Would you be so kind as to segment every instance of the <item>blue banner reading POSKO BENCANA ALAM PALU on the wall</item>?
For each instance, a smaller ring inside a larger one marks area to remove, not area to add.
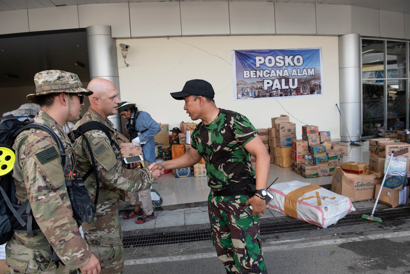
[[[321,96],[321,48],[232,51],[234,101]]]

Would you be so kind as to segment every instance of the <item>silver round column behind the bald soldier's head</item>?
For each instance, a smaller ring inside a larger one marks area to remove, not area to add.
[[[92,25],[86,28],[88,61],[90,66],[90,80],[104,78],[116,86],[120,92],[120,81],[118,78],[117,48],[115,39],[111,37],[111,26]],[[120,94],[118,94],[120,98]],[[121,117],[109,116],[108,119],[121,132]]]

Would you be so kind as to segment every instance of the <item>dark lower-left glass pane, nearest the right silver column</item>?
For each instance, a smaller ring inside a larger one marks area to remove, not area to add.
[[[375,136],[384,128],[384,80],[365,80],[363,89],[363,134]]]

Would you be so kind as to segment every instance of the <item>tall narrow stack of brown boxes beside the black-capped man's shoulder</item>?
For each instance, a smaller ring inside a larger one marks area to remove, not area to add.
[[[272,118],[272,127],[268,128],[268,145],[271,163],[282,168],[292,165],[292,141],[296,139],[296,124],[289,122],[289,116],[280,115]]]

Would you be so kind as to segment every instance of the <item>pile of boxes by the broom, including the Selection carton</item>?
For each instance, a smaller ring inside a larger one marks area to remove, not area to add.
[[[332,191],[347,196],[352,202],[376,198],[393,149],[397,157],[392,159],[379,202],[392,207],[406,203],[410,144],[394,138],[369,140],[369,163],[347,162],[342,163],[342,168],[336,168]]]

